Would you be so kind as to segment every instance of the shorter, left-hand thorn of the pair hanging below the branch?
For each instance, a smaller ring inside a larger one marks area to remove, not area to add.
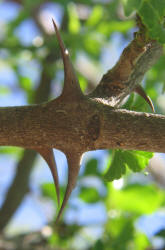
[[[37,151],[44,158],[44,160],[47,162],[50,168],[51,174],[53,176],[55,189],[56,189],[58,206],[60,206],[60,188],[59,188],[59,181],[58,181],[58,171],[57,171],[56,161],[55,161],[54,154],[53,154],[53,149],[42,148],[42,149],[37,149]]]

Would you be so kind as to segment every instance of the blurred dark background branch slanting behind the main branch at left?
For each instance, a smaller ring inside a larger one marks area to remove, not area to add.
[[[48,72],[48,67],[54,62],[54,59],[50,60],[50,58],[51,55],[48,55],[46,58],[41,73],[41,80],[35,92],[34,103],[47,101],[50,95],[52,77]],[[0,231],[8,224],[24,196],[29,192],[29,178],[36,156],[37,153],[35,151],[25,150],[17,163],[15,177],[0,209]]]

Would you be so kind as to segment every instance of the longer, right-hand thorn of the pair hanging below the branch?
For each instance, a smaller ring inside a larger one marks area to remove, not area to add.
[[[57,218],[56,218],[56,223],[59,221],[60,216],[64,210],[64,208],[66,207],[67,201],[71,195],[72,190],[74,189],[75,185],[76,185],[76,181],[77,181],[77,177],[79,174],[79,170],[80,170],[80,161],[81,161],[81,155],[73,155],[73,154],[69,154],[66,155],[67,156],[67,161],[68,161],[68,184],[66,187],[66,192],[65,192],[65,196],[64,196],[64,200],[62,202],[61,208],[58,212]]]

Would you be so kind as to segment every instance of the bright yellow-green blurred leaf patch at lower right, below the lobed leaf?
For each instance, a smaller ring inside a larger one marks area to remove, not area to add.
[[[164,193],[155,186],[129,185],[122,190],[110,190],[109,202],[116,209],[137,214],[154,212],[163,202]]]

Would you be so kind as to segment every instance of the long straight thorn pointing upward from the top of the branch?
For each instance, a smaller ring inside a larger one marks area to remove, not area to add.
[[[64,89],[63,89],[63,94],[66,93],[66,96],[76,96],[82,95],[81,88],[77,79],[77,76],[75,74],[74,68],[72,66],[71,60],[69,58],[69,52],[65,48],[65,45],[62,41],[60,32],[57,28],[57,25],[55,21],[52,19],[54,29],[56,31],[56,36],[57,40],[59,42],[60,50],[61,50],[61,55],[63,59],[63,64],[64,64]],[[74,91],[75,90],[75,91]]]

